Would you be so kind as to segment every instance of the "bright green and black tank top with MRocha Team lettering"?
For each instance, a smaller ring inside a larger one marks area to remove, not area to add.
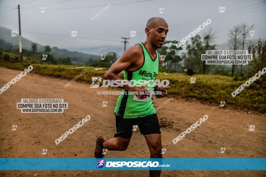
[[[140,68],[134,71],[124,70],[124,80],[154,80],[145,87],[146,89],[153,88],[152,85],[154,84],[155,77],[159,72],[158,52],[155,52],[156,58],[155,60],[152,60],[151,55],[149,54],[143,43],[136,45],[140,45],[142,48],[144,56],[143,64]],[[128,90],[122,89],[122,92],[124,92],[124,94],[119,95],[115,106],[115,113],[117,115],[121,115],[123,118],[138,118],[156,113],[152,98],[147,102],[135,101],[133,100],[134,95],[128,94]]]

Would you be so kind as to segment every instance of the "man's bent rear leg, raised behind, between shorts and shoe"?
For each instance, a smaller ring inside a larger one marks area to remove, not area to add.
[[[122,137],[111,138],[103,143],[103,148],[108,150],[126,150],[130,139],[124,139]]]

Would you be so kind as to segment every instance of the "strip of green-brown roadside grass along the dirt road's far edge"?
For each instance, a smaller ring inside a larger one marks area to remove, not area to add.
[[[0,65],[22,71],[24,68],[28,68],[30,64],[0,62]],[[92,83],[91,77],[102,77],[103,79],[105,72],[108,70],[108,68],[102,68],[102,70],[94,71],[94,67],[71,69],[79,67],[73,65],[32,64],[32,66],[33,70],[31,72],[33,73],[42,76],[63,78],[69,81],[86,69],[87,72],[77,79],[77,81],[83,81],[86,84]],[[118,74],[118,76],[123,78],[122,73]],[[195,84],[190,84],[190,77],[196,77]],[[159,72],[156,79],[160,79],[160,81],[164,79],[169,80],[170,89],[167,90],[169,96],[181,96],[189,100],[196,99],[203,103],[216,103],[218,106],[220,105],[220,101],[225,101],[225,107],[226,105],[230,105],[237,109],[248,109],[262,113],[266,112],[265,75],[262,75],[258,80],[248,87],[245,87],[245,89],[235,97],[232,97],[232,91],[240,87],[248,79],[234,81],[232,77],[228,76],[202,74],[187,76],[180,73],[168,73],[168,75],[165,75],[162,72]]]

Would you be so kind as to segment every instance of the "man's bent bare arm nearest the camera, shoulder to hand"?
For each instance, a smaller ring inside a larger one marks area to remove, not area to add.
[[[142,58],[143,52],[141,46],[135,45],[128,48],[115,63],[109,68],[109,70],[105,73],[104,79],[108,80],[120,80],[119,83],[123,80],[117,74],[121,71],[136,66],[139,58]],[[144,87],[130,87],[128,84],[123,84],[123,88],[128,91],[147,91]],[[136,95],[138,98],[143,99],[148,95]]]

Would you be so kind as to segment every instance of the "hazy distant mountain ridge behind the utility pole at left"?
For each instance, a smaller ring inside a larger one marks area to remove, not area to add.
[[[12,46],[13,49],[18,48],[18,37],[10,37],[10,29],[5,27],[0,27],[0,47],[3,49],[8,49],[9,46]],[[22,39],[22,49],[31,50],[31,43],[34,43],[31,40],[28,40],[24,37]],[[44,46],[41,44],[38,44],[38,52],[41,52],[44,50]],[[59,49],[58,47],[53,47],[52,52],[54,57],[61,57],[66,58],[70,57],[70,60],[73,62],[79,62],[79,63],[85,63],[86,60],[89,60],[89,58],[92,58],[93,60],[97,60],[100,58],[99,55],[93,55],[93,54],[87,54],[83,52],[77,52],[77,51],[70,51],[67,49]]]

